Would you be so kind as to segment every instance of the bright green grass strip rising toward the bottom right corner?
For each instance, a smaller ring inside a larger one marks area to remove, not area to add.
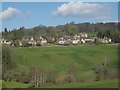
[[[92,81],[82,83],[71,83],[64,85],[53,85],[46,88],[118,88],[118,80],[103,80],[103,81]]]

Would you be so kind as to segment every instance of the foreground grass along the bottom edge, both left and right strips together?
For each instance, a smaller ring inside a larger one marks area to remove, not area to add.
[[[5,82],[3,81],[4,88],[28,88],[29,84],[18,83],[15,81]],[[103,81],[91,81],[81,83],[71,83],[63,85],[52,85],[42,88],[118,88],[118,80],[103,80]]]

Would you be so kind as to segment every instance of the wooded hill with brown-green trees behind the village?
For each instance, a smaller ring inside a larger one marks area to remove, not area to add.
[[[79,34],[80,32],[86,33],[96,33],[104,32],[108,30],[111,33],[119,32],[118,31],[118,23],[109,22],[109,23],[79,23],[75,24],[74,22],[67,23],[65,25],[58,26],[44,26],[39,25],[33,28],[26,29],[24,27],[20,27],[19,29],[13,30],[5,30],[2,32],[3,38],[8,40],[20,40],[23,38],[33,37],[62,37],[65,35],[73,36],[75,34]],[[116,34],[116,33],[115,33]]]

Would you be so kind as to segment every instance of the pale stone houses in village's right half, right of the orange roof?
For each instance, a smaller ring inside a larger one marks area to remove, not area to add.
[[[94,42],[97,37],[88,37],[87,33],[80,33],[79,35],[75,35],[73,37],[65,36],[61,37],[58,40],[59,44],[79,44],[79,43],[87,43],[87,42]],[[110,43],[111,39],[104,37],[104,38],[99,38],[100,43]]]

